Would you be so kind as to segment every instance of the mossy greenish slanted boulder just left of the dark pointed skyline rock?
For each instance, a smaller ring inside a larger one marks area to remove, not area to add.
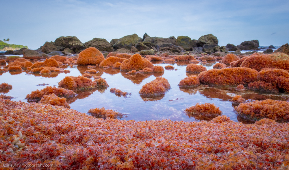
[[[138,37],[137,34],[127,35],[123,38],[120,38],[114,45],[113,49],[125,48],[130,50],[131,46],[135,46],[136,43],[142,41],[142,38]]]

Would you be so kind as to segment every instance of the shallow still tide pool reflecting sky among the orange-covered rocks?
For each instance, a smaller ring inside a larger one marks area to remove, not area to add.
[[[201,64],[208,69],[216,62]],[[231,99],[235,95],[242,95],[246,101],[275,99],[288,100],[289,95],[284,93],[279,94],[259,94],[251,90],[239,92],[235,90],[236,86],[230,87],[208,87],[199,86],[191,89],[179,88],[179,81],[185,77],[192,75],[186,73],[186,65],[188,62],[178,62],[170,64],[177,70],[165,70],[164,73],[145,74],[145,75],[127,75],[118,69],[99,69],[98,73],[93,76],[101,76],[109,84],[107,89],[87,90],[78,93],[77,97],[67,99],[71,109],[79,112],[88,112],[91,108],[112,109],[125,114],[122,119],[126,120],[162,120],[170,119],[172,121],[199,121],[194,117],[188,117],[184,110],[195,104],[214,103],[223,112],[223,115],[230,117],[233,121],[240,121],[243,123],[251,123],[248,120],[238,117],[234,111],[234,105]],[[154,65],[166,66],[169,64],[154,63]],[[13,89],[5,95],[16,97],[15,101],[24,101],[26,95],[36,89],[42,89],[46,86],[36,86],[37,84],[49,84],[48,86],[58,86],[65,76],[78,76],[84,74],[87,66],[73,66],[73,68],[63,66],[70,73],[51,73],[49,76],[42,76],[40,74],[31,74],[26,72],[6,72],[0,73],[0,84],[5,82],[11,84]],[[155,79],[155,77],[162,76],[168,80],[171,89],[165,93],[164,96],[147,99],[139,95],[139,90],[144,84]],[[93,78],[92,78],[93,80]],[[118,97],[114,93],[110,93],[110,88],[118,88],[122,91],[131,93],[127,97]]]

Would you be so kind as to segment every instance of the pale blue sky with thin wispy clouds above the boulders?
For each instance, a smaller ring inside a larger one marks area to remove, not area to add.
[[[37,49],[60,36],[82,43],[144,33],[199,39],[213,34],[219,45],[259,40],[289,43],[288,0],[10,0],[1,1],[0,40]]]

